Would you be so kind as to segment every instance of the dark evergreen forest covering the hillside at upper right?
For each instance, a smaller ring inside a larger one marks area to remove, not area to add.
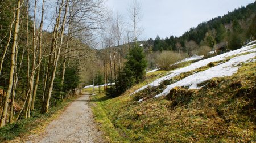
[[[214,48],[220,42],[227,42],[228,49],[234,50],[256,37],[255,24],[256,3],[228,12],[209,21],[202,22],[196,28],[190,28],[180,37],[156,36],[155,40],[148,40],[145,46],[149,51],[174,50],[187,54],[196,54],[200,46]]]

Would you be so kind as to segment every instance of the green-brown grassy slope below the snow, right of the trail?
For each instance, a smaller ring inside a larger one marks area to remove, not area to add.
[[[256,62],[242,64],[233,76],[207,81],[200,90],[175,88],[169,96],[149,96],[140,103],[138,96],[145,98],[148,92],[133,96],[130,93],[146,83],[113,99],[97,94],[92,97],[96,103],[93,112],[109,142],[253,142],[255,65]],[[197,70],[206,69],[207,66]],[[154,73],[151,78],[155,79]]]

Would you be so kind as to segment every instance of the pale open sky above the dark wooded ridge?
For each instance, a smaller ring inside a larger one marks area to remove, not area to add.
[[[143,34],[141,40],[181,36],[191,27],[228,11],[246,6],[254,0],[139,0],[142,5]],[[127,9],[132,0],[106,0],[113,12],[120,12],[127,20]]]

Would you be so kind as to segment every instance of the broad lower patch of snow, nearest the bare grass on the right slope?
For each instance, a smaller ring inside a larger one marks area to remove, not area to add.
[[[199,89],[201,87],[198,87],[197,85],[203,83],[204,81],[210,80],[214,77],[224,77],[233,75],[237,72],[238,68],[240,68],[241,63],[246,62],[247,60],[254,57],[255,53],[234,57],[230,59],[228,62],[209,68],[208,70],[195,73],[193,75],[185,77],[180,81],[177,81],[174,84],[168,85],[167,88],[164,89],[162,93],[156,95],[155,97],[167,95],[170,92],[170,90],[176,86],[189,86],[189,89]]]

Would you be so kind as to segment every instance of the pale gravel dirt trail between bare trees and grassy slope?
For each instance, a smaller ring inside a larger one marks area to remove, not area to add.
[[[26,142],[104,142],[94,123],[89,93],[73,101],[45,131],[31,135]]]

